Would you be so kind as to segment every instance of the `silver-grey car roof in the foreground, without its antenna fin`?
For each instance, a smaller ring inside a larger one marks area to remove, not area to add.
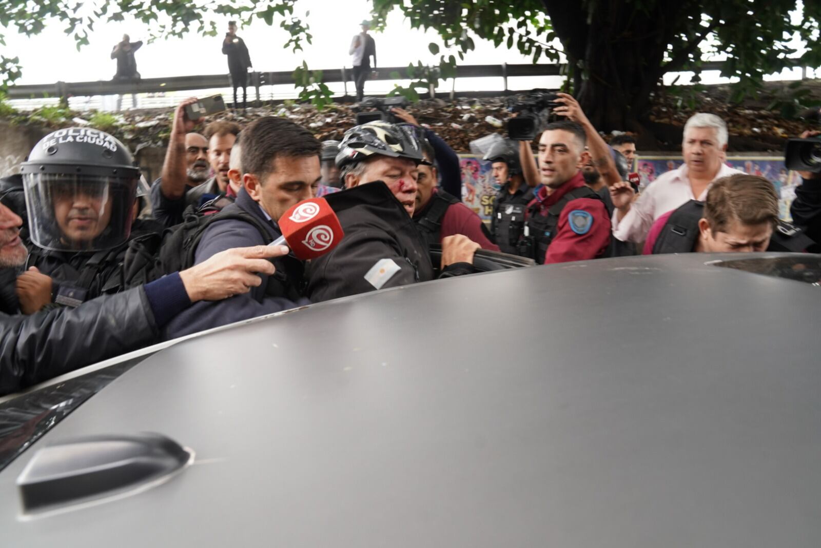
[[[172,345],[0,473],[2,545],[819,546],[821,293],[708,260],[490,272]],[[194,464],[21,513],[38,448],[139,432]]]

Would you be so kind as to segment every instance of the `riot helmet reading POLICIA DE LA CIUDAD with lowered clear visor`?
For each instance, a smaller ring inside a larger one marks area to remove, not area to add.
[[[140,169],[119,140],[100,130],[46,135],[21,165],[31,241],[55,251],[97,251],[123,244]]]

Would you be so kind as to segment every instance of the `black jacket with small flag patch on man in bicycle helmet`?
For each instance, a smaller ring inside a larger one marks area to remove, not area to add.
[[[357,186],[325,197],[337,212],[345,237],[330,253],[316,258],[308,267],[308,298],[319,302],[376,289],[433,280],[428,248],[415,222],[382,181]],[[379,288],[365,276],[381,260],[398,267]],[[474,272],[472,265],[457,263],[440,277]]]

